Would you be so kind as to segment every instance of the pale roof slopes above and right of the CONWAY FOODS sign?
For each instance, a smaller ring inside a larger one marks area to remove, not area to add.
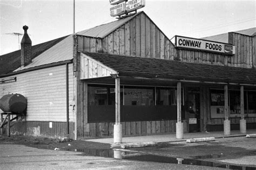
[[[255,36],[256,27],[246,29],[246,30],[233,31],[233,32],[240,33],[242,35],[247,35],[247,36]],[[228,33],[222,33],[222,34],[219,34],[219,35],[204,37],[204,38],[201,38],[201,39],[207,39],[207,40],[213,40],[213,41],[216,41],[216,42],[228,43]]]

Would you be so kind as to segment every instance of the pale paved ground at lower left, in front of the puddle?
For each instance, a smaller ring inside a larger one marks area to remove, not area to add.
[[[0,144],[1,169],[214,169],[85,156],[78,152]]]

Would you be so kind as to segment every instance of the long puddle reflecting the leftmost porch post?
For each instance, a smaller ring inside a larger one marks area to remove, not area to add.
[[[129,151],[124,149],[75,149],[75,151],[83,152],[84,153],[83,155],[125,159],[125,160],[151,161],[151,162],[161,162],[161,163],[168,163],[168,164],[198,165],[198,166],[219,167],[219,168],[227,168],[227,169],[242,169],[242,170],[256,169],[256,167],[250,167],[250,166],[230,165],[222,162],[198,160],[198,159],[220,158],[222,155],[218,155],[218,154],[203,155],[203,156],[193,157],[193,159],[184,159],[184,158],[164,157],[160,155],[147,154],[143,152]]]

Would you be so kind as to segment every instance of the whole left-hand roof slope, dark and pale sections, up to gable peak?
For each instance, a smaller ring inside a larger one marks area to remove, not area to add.
[[[142,12],[111,23],[96,26],[95,28],[77,32],[77,35],[103,38]],[[21,50],[2,55],[0,56],[0,76],[35,66],[71,60],[73,58],[72,44],[72,35],[69,35],[42,44],[33,45],[32,63],[23,68],[21,68]]]

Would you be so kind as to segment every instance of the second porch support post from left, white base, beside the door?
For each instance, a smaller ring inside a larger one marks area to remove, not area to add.
[[[176,138],[183,138],[183,123],[181,122],[181,82],[177,82],[177,123]]]

